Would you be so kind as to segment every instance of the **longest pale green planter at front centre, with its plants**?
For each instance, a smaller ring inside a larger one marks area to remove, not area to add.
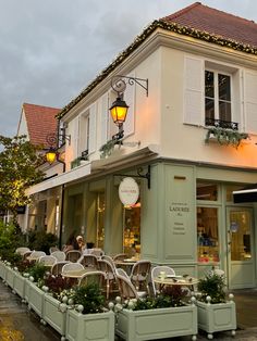
[[[130,300],[115,305],[115,333],[126,341],[157,340],[197,334],[195,298],[183,302],[184,293],[178,286],[168,287],[157,298]]]

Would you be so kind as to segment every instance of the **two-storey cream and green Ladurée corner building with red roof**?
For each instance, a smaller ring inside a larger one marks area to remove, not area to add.
[[[118,132],[109,114],[117,75],[143,83],[127,84],[123,144],[101,159],[99,149]],[[234,204],[232,195],[257,182],[254,22],[199,2],[155,21],[59,118],[71,136],[66,172],[29,192],[48,198],[63,187],[62,242],[75,230],[108,254],[134,245],[142,258],[179,274],[200,276],[218,265],[230,288],[256,287],[256,206]],[[221,132],[243,140],[221,146]],[[150,181],[139,177],[149,174]],[[139,186],[130,206],[119,198],[127,176]]]

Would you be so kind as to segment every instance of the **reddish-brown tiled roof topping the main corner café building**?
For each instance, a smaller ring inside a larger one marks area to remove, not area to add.
[[[257,47],[257,24],[255,22],[209,8],[200,2],[195,2],[179,12],[164,16],[161,21]]]

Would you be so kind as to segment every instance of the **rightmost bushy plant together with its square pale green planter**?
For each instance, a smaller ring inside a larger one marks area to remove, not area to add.
[[[231,330],[232,336],[236,329],[235,303],[233,294],[225,292],[225,279],[223,275],[215,270],[206,274],[199,280],[197,299],[198,328],[208,332],[208,339],[212,339],[216,331]]]

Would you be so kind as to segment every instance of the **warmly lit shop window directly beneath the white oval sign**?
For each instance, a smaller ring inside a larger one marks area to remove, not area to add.
[[[123,249],[130,256],[140,254],[140,203],[124,207]]]

